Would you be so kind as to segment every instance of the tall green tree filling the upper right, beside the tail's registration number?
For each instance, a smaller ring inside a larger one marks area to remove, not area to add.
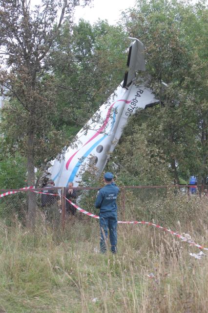
[[[176,0],[139,1],[124,15],[126,30],[145,45],[141,75],[161,103],[144,121],[146,143],[163,151],[177,183],[179,175],[208,175],[207,15],[203,2]]]

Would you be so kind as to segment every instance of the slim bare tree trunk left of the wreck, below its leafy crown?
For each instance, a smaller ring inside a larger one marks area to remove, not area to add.
[[[28,134],[28,152],[27,152],[27,181],[28,186],[35,185],[35,168],[34,168],[34,131]],[[36,220],[36,194],[28,191],[28,213],[27,227],[33,228]]]

